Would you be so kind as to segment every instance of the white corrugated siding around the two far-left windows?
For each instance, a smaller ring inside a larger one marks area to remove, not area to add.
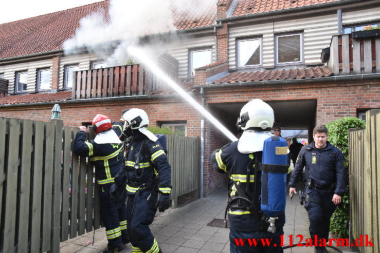
[[[8,94],[13,94],[14,92],[14,82],[15,82],[15,72],[17,71],[28,71],[28,92],[34,92],[37,84],[37,69],[40,68],[51,68],[52,61],[42,60],[28,63],[5,65],[0,68],[0,72],[4,72],[4,79],[9,81]],[[51,84],[51,75],[50,75]]]

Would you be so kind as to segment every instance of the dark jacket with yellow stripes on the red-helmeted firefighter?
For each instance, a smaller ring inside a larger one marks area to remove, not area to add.
[[[119,136],[122,123],[113,122],[113,130]],[[74,141],[74,152],[81,157],[89,157],[95,166],[99,184],[113,183],[116,173],[124,164],[122,144],[97,144],[94,140],[85,141],[87,133],[79,131]]]

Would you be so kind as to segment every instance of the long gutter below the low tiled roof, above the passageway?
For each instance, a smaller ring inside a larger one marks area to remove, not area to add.
[[[193,88],[231,88],[231,87],[247,87],[247,86],[265,86],[265,85],[281,85],[281,84],[310,84],[310,83],[328,83],[340,81],[365,81],[380,79],[380,73],[376,74],[358,74],[358,75],[337,75],[328,77],[308,78],[308,79],[292,79],[292,80],[274,80],[274,81],[257,81],[257,82],[240,82],[240,83],[224,83],[224,84],[206,84],[194,85]]]

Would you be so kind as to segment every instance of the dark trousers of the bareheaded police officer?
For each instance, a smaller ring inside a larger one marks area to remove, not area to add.
[[[310,237],[318,236],[318,240],[324,238],[329,239],[330,218],[333,215],[336,205],[332,202],[334,192],[328,189],[306,188],[306,194],[310,201],[305,203],[305,209],[310,220]]]

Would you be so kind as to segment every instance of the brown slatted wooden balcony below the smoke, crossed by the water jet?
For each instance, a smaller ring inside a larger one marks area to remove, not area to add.
[[[159,56],[158,66],[176,80],[178,61],[174,57]],[[74,72],[71,99],[147,95],[163,87],[162,81],[143,64],[89,69]]]

